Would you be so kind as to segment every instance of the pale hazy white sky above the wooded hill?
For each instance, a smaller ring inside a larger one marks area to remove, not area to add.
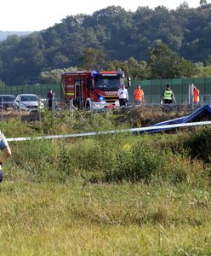
[[[135,11],[138,6],[147,5],[151,9],[158,5],[176,9],[183,2],[183,0],[2,0],[0,31],[40,31],[60,23],[60,20],[68,15],[91,15],[94,11],[111,5]],[[197,7],[200,0],[185,2],[189,7]]]

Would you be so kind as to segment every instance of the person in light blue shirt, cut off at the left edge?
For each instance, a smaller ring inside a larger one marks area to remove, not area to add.
[[[9,148],[9,143],[3,135],[3,132],[0,131],[0,183],[3,181],[3,163],[9,159],[11,156],[11,149]]]

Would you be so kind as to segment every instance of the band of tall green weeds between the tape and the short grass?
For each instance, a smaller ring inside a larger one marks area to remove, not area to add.
[[[97,116],[97,120],[101,127],[102,117]],[[96,119],[94,121],[97,125]],[[111,128],[112,124],[109,126]],[[109,137],[31,140],[13,143],[10,162],[15,169],[40,181],[55,178],[64,182],[70,177],[83,177],[85,182],[91,183],[123,180],[150,183],[152,179],[191,183],[201,177],[209,182],[210,137],[206,137],[209,133],[207,128],[179,135],[123,133]]]

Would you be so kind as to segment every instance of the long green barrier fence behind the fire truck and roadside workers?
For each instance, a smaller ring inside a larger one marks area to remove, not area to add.
[[[200,90],[202,102],[211,104],[211,78],[210,79],[158,79],[158,80],[134,80],[128,89],[129,102],[133,102],[133,93],[137,84],[142,84],[145,92],[146,103],[160,103],[161,95],[166,84],[170,84],[174,91],[174,96],[178,103],[188,103],[188,84],[195,84]],[[20,93],[33,93],[42,98],[46,98],[48,89],[55,92],[55,98],[60,99],[63,96],[60,84],[35,84],[23,86],[4,86],[0,87],[0,94],[12,94],[14,96]]]

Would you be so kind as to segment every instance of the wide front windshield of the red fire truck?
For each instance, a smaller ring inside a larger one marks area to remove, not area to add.
[[[121,78],[95,78],[95,88],[100,90],[118,89],[122,83]]]

